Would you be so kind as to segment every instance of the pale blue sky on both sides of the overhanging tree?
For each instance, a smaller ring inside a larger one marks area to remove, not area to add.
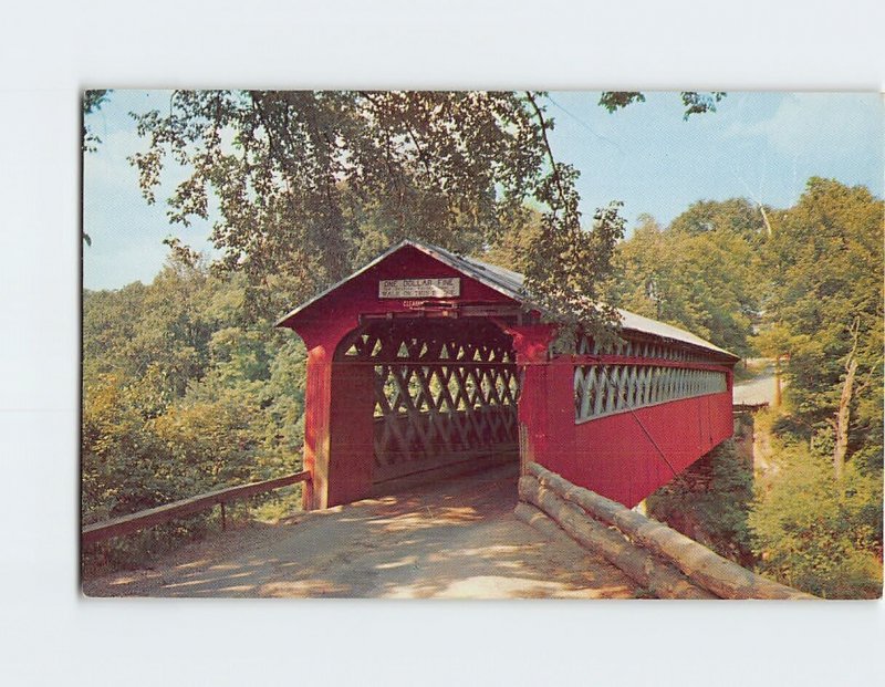
[[[581,170],[582,211],[623,200],[632,228],[649,214],[666,225],[700,199],[747,197],[773,207],[796,201],[811,176],[864,185],[883,196],[883,101],[877,93],[731,92],[715,114],[683,119],[678,93],[646,92],[646,102],[610,114],[596,92],[553,92],[551,145]],[[148,283],[163,266],[163,239],[178,236],[211,252],[210,222],[170,225],[165,199],[185,170],[170,168],[148,206],[127,162],[144,149],[129,112],[168,107],[163,91],[115,91],[90,117],[102,138],[83,164],[84,285]]]

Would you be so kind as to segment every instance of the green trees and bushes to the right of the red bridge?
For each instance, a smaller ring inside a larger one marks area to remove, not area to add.
[[[649,503],[720,553],[754,555],[760,571],[830,597],[877,596],[882,585],[882,227],[881,200],[819,178],[785,211],[699,201],[666,230],[642,218],[611,287],[639,314],[743,355],[784,356],[785,413],[771,423],[773,467],[749,520],[749,492],[728,470],[710,491],[689,470]],[[839,481],[836,412],[852,356]]]

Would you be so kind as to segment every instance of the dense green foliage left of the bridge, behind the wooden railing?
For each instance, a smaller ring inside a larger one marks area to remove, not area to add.
[[[299,468],[303,344],[247,312],[243,280],[210,274],[189,249],[173,242],[150,285],[86,291],[83,355],[85,523]],[[86,559],[143,563],[214,518],[101,544]]]

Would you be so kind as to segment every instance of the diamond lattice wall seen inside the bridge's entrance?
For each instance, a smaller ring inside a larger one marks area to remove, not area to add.
[[[519,379],[494,325],[376,322],[343,351],[375,368],[376,472],[514,448]]]

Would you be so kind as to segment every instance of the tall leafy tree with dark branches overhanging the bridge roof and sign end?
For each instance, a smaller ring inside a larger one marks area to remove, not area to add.
[[[686,115],[721,96],[684,93]],[[149,146],[133,162],[150,202],[166,158],[185,165],[171,220],[208,217],[215,195],[221,264],[253,285],[294,277],[282,284],[290,302],[402,238],[481,251],[524,222],[532,200],[543,211],[527,289],[556,319],[611,329],[614,311],[595,303],[623,221],[615,204],[582,225],[579,173],[555,160],[553,125],[533,92],[176,92],[168,113],[138,117]]]

